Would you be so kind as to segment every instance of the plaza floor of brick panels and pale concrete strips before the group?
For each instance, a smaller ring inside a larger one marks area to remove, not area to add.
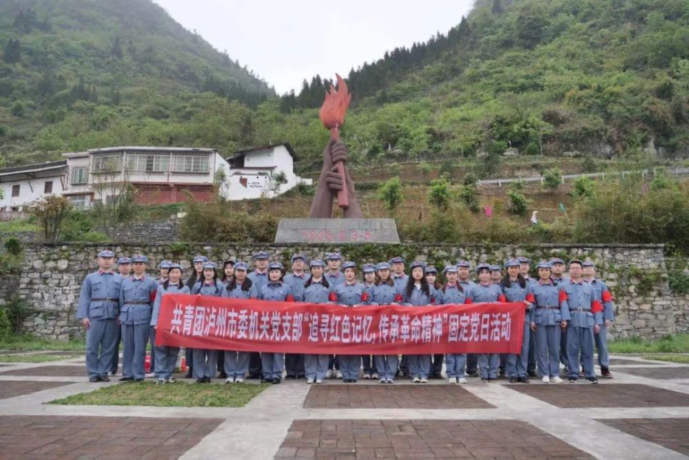
[[[598,385],[283,381],[243,408],[47,404],[120,384],[89,383],[83,358],[0,366],[0,459],[689,456],[689,365],[634,356]]]

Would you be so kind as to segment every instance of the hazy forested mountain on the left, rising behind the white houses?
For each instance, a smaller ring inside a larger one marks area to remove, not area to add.
[[[249,107],[274,95],[150,0],[2,0],[0,53],[0,147],[12,162],[41,158],[24,158],[32,151],[174,143],[146,133],[171,112],[193,116],[186,104],[201,92]],[[138,138],[101,140],[126,130],[119,123],[138,125]]]

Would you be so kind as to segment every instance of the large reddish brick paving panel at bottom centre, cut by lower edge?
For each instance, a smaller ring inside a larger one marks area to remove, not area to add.
[[[517,420],[295,420],[276,458],[590,459]]]

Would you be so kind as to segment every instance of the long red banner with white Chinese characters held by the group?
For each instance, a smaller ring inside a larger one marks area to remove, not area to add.
[[[520,353],[524,303],[360,306],[166,294],[156,345],[330,355]]]

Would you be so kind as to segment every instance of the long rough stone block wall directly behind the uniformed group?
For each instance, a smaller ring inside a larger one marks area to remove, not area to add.
[[[408,261],[418,258],[439,269],[445,264],[466,259],[475,266],[480,262],[500,263],[526,255],[534,262],[561,257],[590,259],[615,295],[617,321],[610,333],[613,338],[657,338],[689,331],[689,297],[675,295],[668,286],[664,247],[660,244],[531,244],[515,247],[497,244],[39,244],[24,245],[25,264],[17,276],[13,293],[27,300],[32,309],[25,320],[28,333],[67,339],[83,331],[74,319],[81,282],[96,269],[95,255],[109,248],[118,256],[143,253],[157,275],[156,265],[163,259],[181,262],[185,278],[196,254],[221,262],[228,258],[251,260],[251,254],[265,250],[289,266],[291,254],[322,258],[338,251],[350,260],[380,262],[393,255]],[[6,290],[0,290],[0,295]]]

